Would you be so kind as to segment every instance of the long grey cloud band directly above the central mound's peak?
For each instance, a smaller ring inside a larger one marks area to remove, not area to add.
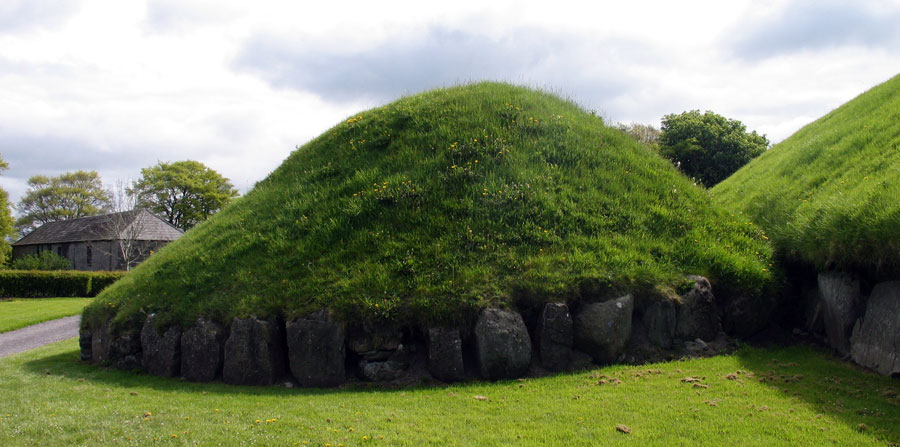
[[[642,63],[658,56],[636,42],[591,44],[579,36],[534,29],[491,38],[435,27],[397,36],[369,51],[332,48],[309,39],[257,35],[239,53],[234,67],[275,87],[339,102],[384,102],[429,88],[486,79],[602,99],[627,92],[633,81],[617,71],[619,63],[598,64],[598,60],[624,57]],[[597,70],[598,66],[606,68]]]

